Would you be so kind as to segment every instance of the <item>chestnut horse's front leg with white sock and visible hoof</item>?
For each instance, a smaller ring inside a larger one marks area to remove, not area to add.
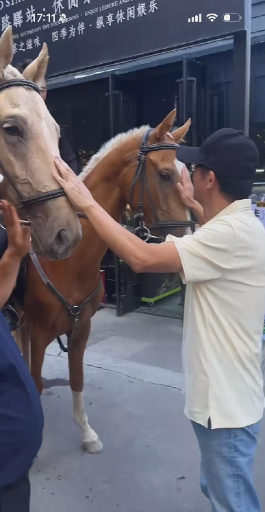
[[[84,388],[83,357],[86,342],[90,334],[90,324],[84,325],[81,332],[71,341],[68,351],[70,386],[73,393],[73,409],[75,423],[83,430],[82,447],[84,452],[99,454],[103,450],[103,444],[99,436],[92,430],[88,423],[88,417],[84,410],[82,391]]]

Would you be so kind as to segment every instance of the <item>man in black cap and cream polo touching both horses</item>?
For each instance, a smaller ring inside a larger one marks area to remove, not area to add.
[[[201,450],[201,488],[212,512],[261,512],[252,465],[264,410],[265,231],[248,199],[257,149],[242,132],[224,128],[201,148],[179,147],[177,158],[194,164],[194,190],[186,168],[178,187],[203,225],[158,245],[110,218],[62,161],[55,177],[133,270],[181,272],[185,412]]]

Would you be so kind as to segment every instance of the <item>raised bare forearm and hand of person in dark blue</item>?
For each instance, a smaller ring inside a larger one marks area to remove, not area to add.
[[[8,230],[8,248],[0,260],[1,309],[15,286],[21,259],[29,252],[30,229],[21,226],[16,210],[7,201],[1,201],[0,208]]]

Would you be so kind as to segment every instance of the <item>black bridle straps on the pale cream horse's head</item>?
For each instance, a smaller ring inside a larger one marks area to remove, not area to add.
[[[33,89],[38,94],[40,94],[40,89],[36,84],[33,82],[29,82],[28,80],[7,80],[0,84],[0,93],[1,91],[4,91],[5,89],[10,89],[10,87],[28,87],[29,89]],[[18,190],[18,187],[16,186],[16,183],[14,183],[13,178],[10,176],[8,171],[3,166],[3,163],[0,161],[0,170],[3,172],[6,178],[8,178],[8,181],[12,185],[13,189],[16,191],[16,194],[18,195],[21,205],[17,207],[17,209],[23,209],[25,207],[35,205],[36,202],[43,202],[48,201],[50,199],[59,198],[62,196],[65,196],[64,189],[55,189],[48,192],[42,192],[41,194],[38,194],[36,196],[31,196],[30,198],[25,198],[23,194]]]

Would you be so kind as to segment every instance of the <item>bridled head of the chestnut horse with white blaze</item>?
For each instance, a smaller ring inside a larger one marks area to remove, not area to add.
[[[146,147],[153,146],[154,148],[149,148],[151,151],[147,150],[146,154],[142,155],[142,146],[140,146],[138,154],[138,165],[140,159],[144,159],[143,172],[146,183],[141,184],[141,179],[143,179],[140,176],[141,172],[138,177],[136,175],[134,178],[133,175],[129,176],[129,174],[126,177],[126,187],[127,190],[130,189],[128,203],[131,209],[134,212],[139,211],[139,205],[142,203],[145,224],[147,226],[156,224],[155,231],[159,235],[166,235],[169,232],[183,235],[186,232],[186,226],[182,228],[180,226],[162,226],[162,224],[190,221],[190,211],[184,206],[177,187],[177,183],[181,181],[183,164],[177,161],[176,148],[176,144],[183,141],[190,128],[190,119],[184,126],[170,133],[175,117],[176,110],[173,110],[157,128],[149,130],[150,133],[148,133],[147,127],[142,132],[142,143],[146,134]],[[134,182],[135,186],[132,193],[131,183]],[[160,223],[162,231],[157,227],[157,224]]]

